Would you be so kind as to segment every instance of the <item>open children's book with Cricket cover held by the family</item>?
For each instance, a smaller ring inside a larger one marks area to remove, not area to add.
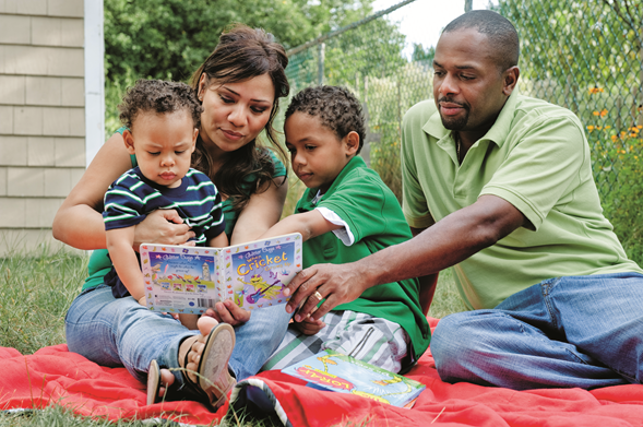
[[[225,299],[253,310],[286,304],[283,288],[301,271],[301,235],[226,248],[141,245],[147,307],[202,315]]]

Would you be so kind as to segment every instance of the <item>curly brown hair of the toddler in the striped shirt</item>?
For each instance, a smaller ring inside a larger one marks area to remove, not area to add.
[[[144,79],[136,81],[133,87],[128,88],[118,109],[120,121],[129,129],[132,129],[134,119],[141,112],[165,114],[181,110],[187,110],[192,117],[194,128],[200,128],[203,111],[194,90],[186,83]]]

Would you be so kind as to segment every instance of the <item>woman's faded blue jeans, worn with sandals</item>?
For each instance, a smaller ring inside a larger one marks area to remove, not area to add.
[[[277,348],[291,315],[286,306],[253,310],[250,321],[235,328],[236,345],[229,368],[237,380],[255,375]],[[66,318],[67,344],[100,366],[124,366],[145,381],[152,359],[162,367],[177,368],[180,343],[199,331],[189,331],[169,315],[153,312],[133,298],[114,298],[100,285],[79,295]],[[175,372],[182,383],[182,377]]]

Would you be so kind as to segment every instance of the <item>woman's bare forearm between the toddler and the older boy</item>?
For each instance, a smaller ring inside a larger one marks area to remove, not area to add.
[[[265,191],[252,194],[241,211],[230,245],[257,240],[279,221],[288,192],[288,179],[276,177],[266,186],[269,187]]]

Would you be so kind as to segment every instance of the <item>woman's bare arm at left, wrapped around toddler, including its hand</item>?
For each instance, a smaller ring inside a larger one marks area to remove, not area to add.
[[[122,135],[100,147],[53,218],[53,237],[78,249],[105,249],[103,199],[111,182],[132,167]],[[171,223],[175,224],[171,224]],[[176,211],[155,211],[134,228],[134,248],[143,241],[182,245],[194,236]]]

